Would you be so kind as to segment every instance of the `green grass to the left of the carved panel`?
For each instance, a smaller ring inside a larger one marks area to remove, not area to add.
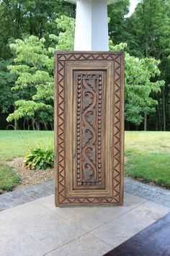
[[[0,130],[0,189],[12,190],[19,183],[19,176],[6,161],[24,156],[32,148],[45,148],[53,145],[53,132],[50,131],[10,131]]]

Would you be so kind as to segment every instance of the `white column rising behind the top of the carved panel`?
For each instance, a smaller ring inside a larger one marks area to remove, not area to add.
[[[74,51],[109,51],[106,0],[76,1]]]

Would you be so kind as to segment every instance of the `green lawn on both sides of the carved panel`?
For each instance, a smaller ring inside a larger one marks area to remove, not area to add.
[[[32,148],[53,145],[53,132],[0,131],[0,189],[10,190],[19,177],[5,162]],[[125,132],[125,175],[170,189],[170,132]]]

